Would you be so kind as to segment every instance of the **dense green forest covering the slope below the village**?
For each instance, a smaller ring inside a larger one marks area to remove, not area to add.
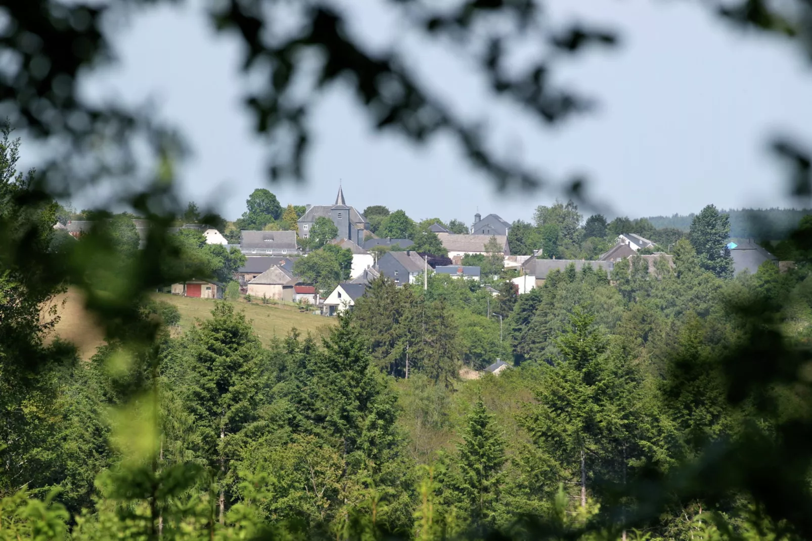
[[[733,277],[706,206],[672,264],[377,279],[264,346],[235,302],[179,333],[145,293],[235,256],[67,239],[2,149],[0,539],[808,538],[810,219],[784,271]],[[68,282],[107,314],[88,361],[42,311]]]

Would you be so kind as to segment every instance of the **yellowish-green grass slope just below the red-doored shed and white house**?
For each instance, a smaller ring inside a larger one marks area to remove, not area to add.
[[[182,331],[192,326],[195,319],[210,318],[211,310],[214,309],[213,299],[198,299],[167,293],[156,293],[154,298],[178,307]],[[257,336],[266,345],[274,340],[274,336],[283,338],[294,327],[302,334],[311,332],[313,335],[320,336],[326,335],[330,327],[335,325],[335,319],[311,314],[309,311],[301,312],[299,306],[292,302],[277,301],[274,304],[263,305],[261,301],[255,300],[248,303],[244,299],[240,299],[234,304],[245,314],[245,317],[252,323]]]

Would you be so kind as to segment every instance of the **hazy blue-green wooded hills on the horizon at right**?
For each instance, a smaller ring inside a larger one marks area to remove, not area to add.
[[[812,209],[732,209],[721,210],[730,215],[730,236],[756,240],[781,240],[787,238],[798,222]],[[658,229],[676,227],[688,231],[694,214],[672,216],[649,216],[646,219]]]

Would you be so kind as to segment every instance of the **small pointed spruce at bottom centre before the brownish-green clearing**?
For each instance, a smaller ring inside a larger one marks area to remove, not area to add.
[[[466,419],[463,442],[457,446],[460,467],[460,500],[477,529],[495,526],[495,515],[504,482],[504,441],[494,417],[482,398]]]

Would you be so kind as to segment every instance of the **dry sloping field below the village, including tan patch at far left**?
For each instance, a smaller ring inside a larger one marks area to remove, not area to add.
[[[196,299],[166,293],[155,293],[154,298],[158,301],[170,302],[178,307],[181,331],[188,329],[196,318],[208,319],[211,317],[211,310],[214,308],[214,301],[211,299]],[[96,348],[104,343],[104,335],[101,327],[93,320],[93,316],[85,311],[80,293],[74,290],[68,291],[54,299],[54,304],[58,306],[60,316],[54,329],[54,335],[76,344],[83,359],[93,357]],[[330,326],[335,324],[334,319],[300,312],[298,307],[292,303],[263,305],[239,301],[236,305],[237,309],[252,322],[257,336],[266,345],[270,344],[274,336],[287,335],[293,327],[299,329],[303,334],[311,332],[313,335],[319,336],[325,335]]]

